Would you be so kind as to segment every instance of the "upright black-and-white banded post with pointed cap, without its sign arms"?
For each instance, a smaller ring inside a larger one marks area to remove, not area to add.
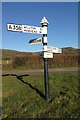
[[[48,21],[45,17],[43,17],[42,21],[43,30],[47,31]],[[44,86],[45,86],[45,97],[48,100],[50,97],[49,90],[49,80],[48,80],[48,63],[47,63],[47,33],[43,34],[43,49],[44,49]]]

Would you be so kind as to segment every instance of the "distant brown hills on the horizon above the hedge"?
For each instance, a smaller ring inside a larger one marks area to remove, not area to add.
[[[62,48],[62,55],[78,55],[78,49],[75,48]],[[39,56],[40,53],[37,52],[19,52],[15,50],[7,50],[7,49],[2,49],[0,50],[0,53],[2,52],[2,60],[10,60],[15,56]],[[59,54],[55,54],[59,55]],[[60,56],[60,55],[59,55]]]

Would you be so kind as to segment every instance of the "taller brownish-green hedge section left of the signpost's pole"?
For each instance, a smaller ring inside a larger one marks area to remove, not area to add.
[[[42,58],[36,56],[23,56],[23,57],[14,57],[12,62],[13,68],[19,69],[39,69],[43,68]]]

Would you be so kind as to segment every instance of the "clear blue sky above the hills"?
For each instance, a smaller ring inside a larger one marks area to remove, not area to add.
[[[29,45],[29,41],[42,34],[10,32],[7,23],[41,27],[43,17],[49,22],[48,46],[78,48],[77,2],[3,2],[2,48],[24,52],[42,51],[42,44]]]

